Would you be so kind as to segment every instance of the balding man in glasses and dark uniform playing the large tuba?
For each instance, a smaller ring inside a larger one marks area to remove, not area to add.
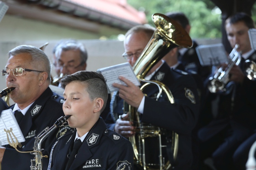
[[[127,58],[131,66],[134,66],[151,39],[154,30],[149,26],[136,26],[126,33],[124,57]],[[159,101],[152,99],[151,97],[155,96],[158,88],[145,89],[143,92],[147,96],[144,96],[139,87],[124,77],[120,77],[120,80],[124,81],[127,86],[113,84],[113,86],[119,88],[119,95],[117,96],[116,92],[113,94],[110,107],[111,113],[106,119],[106,124],[110,129],[123,136],[130,137],[135,135],[135,127],[132,126],[133,122],[128,120],[129,114],[123,114],[125,100],[128,104],[138,109],[138,112],[141,113],[142,122],[160,126],[160,128],[166,129],[168,134],[171,131],[179,134],[177,160],[175,165],[172,162],[172,166],[174,169],[189,169],[192,164],[191,130],[194,128],[199,114],[195,80],[187,73],[183,74],[178,70],[170,69],[164,61],[159,61],[150,70],[145,79],[158,80],[167,85],[172,92],[175,103],[172,104],[168,101],[165,95]],[[163,140],[166,142],[166,139]],[[157,156],[154,155],[154,150],[157,147],[158,145],[155,143],[155,146],[151,146],[150,149],[146,150],[151,155]],[[167,151],[167,154],[171,155],[170,151]]]

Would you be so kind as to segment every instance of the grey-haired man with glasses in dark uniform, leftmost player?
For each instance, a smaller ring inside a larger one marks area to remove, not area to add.
[[[33,46],[18,46],[9,52],[9,60],[2,74],[6,76],[6,85],[15,88],[10,95],[15,104],[9,108],[13,110],[25,137],[25,142],[17,149],[33,151],[35,137],[64,116],[63,98],[48,87],[51,83],[51,63],[42,50]],[[55,135],[54,131],[42,142],[43,155],[49,156]],[[3,170],[27,170],[33,158],[34,155],[19,153],[10,145],[0,148]],[[48,158],[42,161],[46,169]]]

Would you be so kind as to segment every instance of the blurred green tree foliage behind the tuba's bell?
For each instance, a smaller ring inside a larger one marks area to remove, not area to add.
[[[221,11],[210,0],[127,0],[139,11],[144,11],[149,24],[153,25],[154,13],[183,12],[189,19],[192,38],[220,38]]]

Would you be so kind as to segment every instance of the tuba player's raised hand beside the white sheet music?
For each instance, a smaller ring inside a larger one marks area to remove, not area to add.
[[[144,96],[142,91],[138,86],[135,86],[128,79],[122,76],[120,76],[119,79],[127,84],[127,86],[124,86],[121,84],[113,83],[114,87],[119,88],[119,97],[124,99],[126,103],[130,104],[131,106],[138,108]]]

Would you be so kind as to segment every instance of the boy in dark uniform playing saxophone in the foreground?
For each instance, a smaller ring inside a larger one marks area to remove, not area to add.
[[[48,169],[132,170],[130,141],[108,130],[99,117],[108,99],[104,77],[93,71],[78,71],[61,79],[61,86],[65,88],[63,111],[70,116],[69,126],[76,130],[59,138]]]

